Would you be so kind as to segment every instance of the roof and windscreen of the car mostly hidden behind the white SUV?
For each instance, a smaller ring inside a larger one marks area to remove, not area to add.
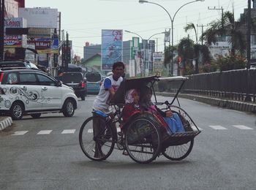
[[[29,61],[0,61],[0,69],[38,69],[37,66]]]

